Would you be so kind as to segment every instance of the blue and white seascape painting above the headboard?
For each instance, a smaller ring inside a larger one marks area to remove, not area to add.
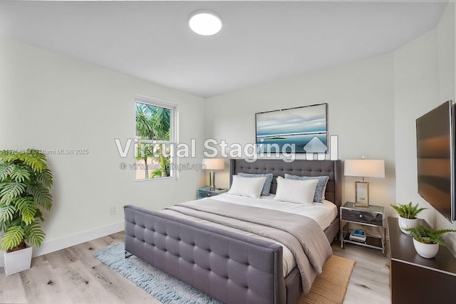
[[[326,153],[327,106],[322,103],[256,113],[257,152]]]

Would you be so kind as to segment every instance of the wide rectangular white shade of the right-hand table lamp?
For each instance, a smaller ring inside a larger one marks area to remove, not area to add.
[[[347,177],[385,177],[383,159],[346,159],[343,175]]]

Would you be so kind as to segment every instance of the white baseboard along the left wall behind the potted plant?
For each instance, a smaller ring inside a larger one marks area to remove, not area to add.
[[[83,231],[79,234],[73,234],[71,236],[66,236],[61,239],[44,241],[41,244],[40,248],[33,248],[33,257],[43,256],[43,254],[46,253],[51,253],[64,248],[75,246],[80,243],[85,243],[86,241],[92,241],[103,236],[108,236],[109,234],[115,234],[116,232],[123,231],[124,229],[125,221],[119,221],[115,224],[110,224],[108,226]],[[0,267],[3,267],[3,258],[0,258]]]

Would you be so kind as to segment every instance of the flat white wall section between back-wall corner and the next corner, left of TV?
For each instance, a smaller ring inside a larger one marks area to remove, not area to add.
[[[396,197],[415,203],[420,200],[415,120],[440,105],[436,31],[398,49],[394,59]]]

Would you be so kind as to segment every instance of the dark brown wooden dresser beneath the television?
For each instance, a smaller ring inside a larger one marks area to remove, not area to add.
[[[412,236],[400,231],[394,217],[388,217],[388,235],[391,302],[455,303],[456,258],[450,251],[440,246],[435,258],[421,257],[413,247]]]

